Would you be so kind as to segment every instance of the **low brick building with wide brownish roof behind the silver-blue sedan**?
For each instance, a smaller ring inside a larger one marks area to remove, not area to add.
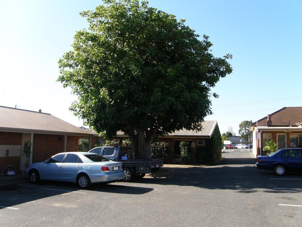
[[[0,106],[0,171],[8,165],[24,170],[25,141],[30,141],[30,163],[56,153],[77,151],[79,138],[90,134],[49,113]]]

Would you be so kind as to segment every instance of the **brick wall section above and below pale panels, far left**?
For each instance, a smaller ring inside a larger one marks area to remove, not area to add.
[[[0,145],[22,145],[22,133],[0,132]],[[0,157],[0,173],[2,169],[10,165],[14,166],[16,171],[19,171],[20,156],[8,157],[8,150],[6,150],[6,156]]]

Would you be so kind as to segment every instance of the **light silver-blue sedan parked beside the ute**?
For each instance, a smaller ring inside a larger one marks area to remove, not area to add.
[[[75,182],[82,189],[91,183],[113,182],[124,177],[122,163],[114,162],[95,153],[65,152],[33,163],[24,171],[31,183],[39,180]]]

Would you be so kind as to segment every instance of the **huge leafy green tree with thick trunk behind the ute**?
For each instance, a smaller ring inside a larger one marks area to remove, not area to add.
[[[78,96],[70,110],[107,137],[127,133],[135,158],[149,157],[155,136],[201,130],[211,114],[210,89],[232,72],[210,53],[208,36],[138,0],[104,0],[80,13],[88,30],[59,59],[58,81]]]

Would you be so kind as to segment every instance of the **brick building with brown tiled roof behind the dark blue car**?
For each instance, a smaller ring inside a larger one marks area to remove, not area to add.
[[[283,107],[254,122],[253,153],[262,155],[265,141],[273,140],[277,149],[302,147],[302,107]]]

